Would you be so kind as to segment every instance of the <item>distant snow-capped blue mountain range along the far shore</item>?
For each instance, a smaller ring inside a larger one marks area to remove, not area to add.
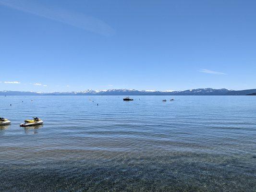
[[[254,95],[256,89],[228,90],[228,89],[190,89],[185,91],[154,91],[135,89],[109,89],[109,90],[85,90],[80,92],[24,92],[24,91],[0,91],[0,96],[245,96]]]

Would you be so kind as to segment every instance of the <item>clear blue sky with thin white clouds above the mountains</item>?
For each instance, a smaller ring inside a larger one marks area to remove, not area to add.
[[[0,0],[0,91],[256,88],[255,0]]]

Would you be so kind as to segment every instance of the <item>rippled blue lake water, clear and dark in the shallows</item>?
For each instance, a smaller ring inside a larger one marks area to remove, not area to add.
[[[256,191],[256,96],[133,98],[1,96],[0,191]]]

